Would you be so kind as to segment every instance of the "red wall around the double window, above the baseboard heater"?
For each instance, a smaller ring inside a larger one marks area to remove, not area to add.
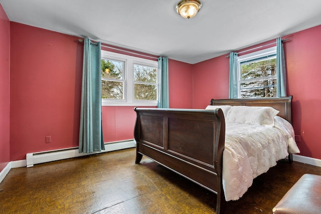
[[[77,40],[11,23],[12,161],[26,159],[29,152],[78,146],[83,44]],[[170,106],[192,108],[192,65],[169,64]],[[105,142],[133,138],[133,109],[102,107]],[[51,143],[45,141],[48,135]]]

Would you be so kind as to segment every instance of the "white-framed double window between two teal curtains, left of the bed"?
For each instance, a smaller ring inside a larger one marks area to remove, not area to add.
[[[157,105],[157,61],[107,51],[101,58],[102,105]]]

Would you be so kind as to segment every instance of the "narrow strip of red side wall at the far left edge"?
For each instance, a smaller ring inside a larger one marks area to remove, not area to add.
[[[10,21],[0,5],[0,171],[10,162]]]

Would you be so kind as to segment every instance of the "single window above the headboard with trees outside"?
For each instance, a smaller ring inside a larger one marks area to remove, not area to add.
[[[238,57],[238,97],[276,97],[276,47]]]

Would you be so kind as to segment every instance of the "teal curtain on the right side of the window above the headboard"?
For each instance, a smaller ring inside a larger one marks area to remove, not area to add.
[[[276,96],[286,97],[286,68],[281,38],[276,39]]]

